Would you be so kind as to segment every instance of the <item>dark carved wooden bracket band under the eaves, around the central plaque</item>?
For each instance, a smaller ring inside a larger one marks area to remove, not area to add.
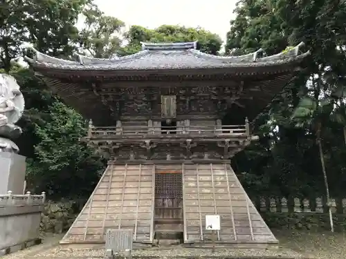
[[[210,114],[225,111],[233,104],[244,108],[242,100],[252,99],[248,90],[244,90],[244,81],[228,86],[193,86],[193,87],[127,87],[110,88],[92,84],[95,95],[101,98],[102,104],[118,116],[121,115],[159,115],[166,101],[179,114],[201,113]],[[168,96],[176,96],[168,99]],[[163,97],[163,99],[161,99]],[[174,107],[173,107],[174,106]],[[165,111],[168,111],[165,109]],[[164,115],[162,117],[176,117]]]

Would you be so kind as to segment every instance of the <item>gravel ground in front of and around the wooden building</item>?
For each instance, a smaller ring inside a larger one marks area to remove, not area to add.
[[[316,258],[316,259],[345,259],[345,233],[307,233],[291,231],[274,231],[280,240],[280,249],[184,249],[175,246],[169,249],[145,249],[134,251],[134,256],[156,258],[188,258],[190,256],[208,258]],[[103,249],[59,249],[57,242],[60,236],[48,236],[44,243],[24,251],[3,256],[1,259],[94,259],[102,258]]]

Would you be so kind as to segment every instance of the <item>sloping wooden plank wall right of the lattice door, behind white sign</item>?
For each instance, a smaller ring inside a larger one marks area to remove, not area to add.
[[[230,165],[184,165],[184,242],[212,240],[206,215],[221,217],[219,242],[277,242]]]

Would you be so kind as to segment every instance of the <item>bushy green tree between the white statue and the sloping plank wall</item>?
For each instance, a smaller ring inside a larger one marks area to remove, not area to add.
[[[35,124],[39,143],[28,179],[51,198],[89,195],[98,182],[102,162],[80,143],[80,137],[86,135],[84,119],[61,102],[53,103],[48,115],[44,124]]]

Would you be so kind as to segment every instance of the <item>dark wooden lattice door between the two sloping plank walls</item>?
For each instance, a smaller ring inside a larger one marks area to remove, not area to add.
[[[181,173],[155,174],[155,219],[183,218],[183,179]]]

